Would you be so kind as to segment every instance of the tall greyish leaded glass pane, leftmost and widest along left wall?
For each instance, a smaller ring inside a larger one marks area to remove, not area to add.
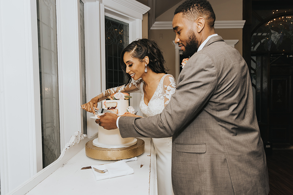
[[[56,1],[37,0],[43,168],[60,156]]]

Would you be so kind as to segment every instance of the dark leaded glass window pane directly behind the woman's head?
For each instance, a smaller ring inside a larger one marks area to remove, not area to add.
[[[120,54],[128,45],[128,28],[128,23],[105,16],[106,89],[121,86],[126,81]]]

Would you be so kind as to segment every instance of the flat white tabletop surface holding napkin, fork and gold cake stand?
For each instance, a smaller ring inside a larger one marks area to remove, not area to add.
[[[80,195],[97,193],[126,195],[136,194],[137,192],[142,195],[147,195],[149,194],[150,188],[153,187],[150,186],[150,183],[153,184],[154,181],[156,182],[156,170],[154,166],[150,165],[151,158],[155,157],[155,155],[154,150],[151,150],[150,138],[140,139],[145,141],[145,152],[138,157],[137,161],[127,162],[127,164],[134,169],[134,173],[131,175],[96,181],[92,169],[81,170],[81,168],[114,161],[102,161],[89,158],[85,155],[85,148],[83,148],[69,161],[65,162],[42,182],[38,183],[27,195]],[[84,144],[84,142],[80,144]],[[76,145],[70,147],[70,150],[76,147]],[[24,189],[16,190],[13,194],[21,194],[23,190]]]

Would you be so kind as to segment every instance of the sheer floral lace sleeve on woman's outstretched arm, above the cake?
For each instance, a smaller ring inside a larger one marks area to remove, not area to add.
[[[142,82],[142,79],[138,79],[138,80],[133,80],[131,83],[129,83],[128,85],[122,85],[119,87],[113,87],[110,89],[107,89],[106,91],[104,91],[103,93],[97,95],[99,97],[99,101],[105,100],[107,98],[110,98],[111,94],[117,93],[117,92],[125,92],[125,93],[131,93],[131,92],[135,92],[137,90],[139,90],[139,83]]]

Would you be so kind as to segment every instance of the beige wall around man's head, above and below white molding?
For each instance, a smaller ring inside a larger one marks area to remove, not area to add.
[[[182,3],[181,1],[171,9],[167,10],[162,15],[156,18],[156,22],[172,21],[175,9]],[[242,0],[210,0],[214,9],[216,21],[222,20],[242,20]],[[242,29],[215,29],[216,33],[222,36],[224,40],[236,39],[239,40],[235,48],[242,55]],[[160,39],[160,34],[163,38]],[[175,39],[173,30],[150,30],[149,38],[154,39],[159,44],[164,53],[166,65],[169,69],[169,74],[175,77],[175,46],[172,41]]]

